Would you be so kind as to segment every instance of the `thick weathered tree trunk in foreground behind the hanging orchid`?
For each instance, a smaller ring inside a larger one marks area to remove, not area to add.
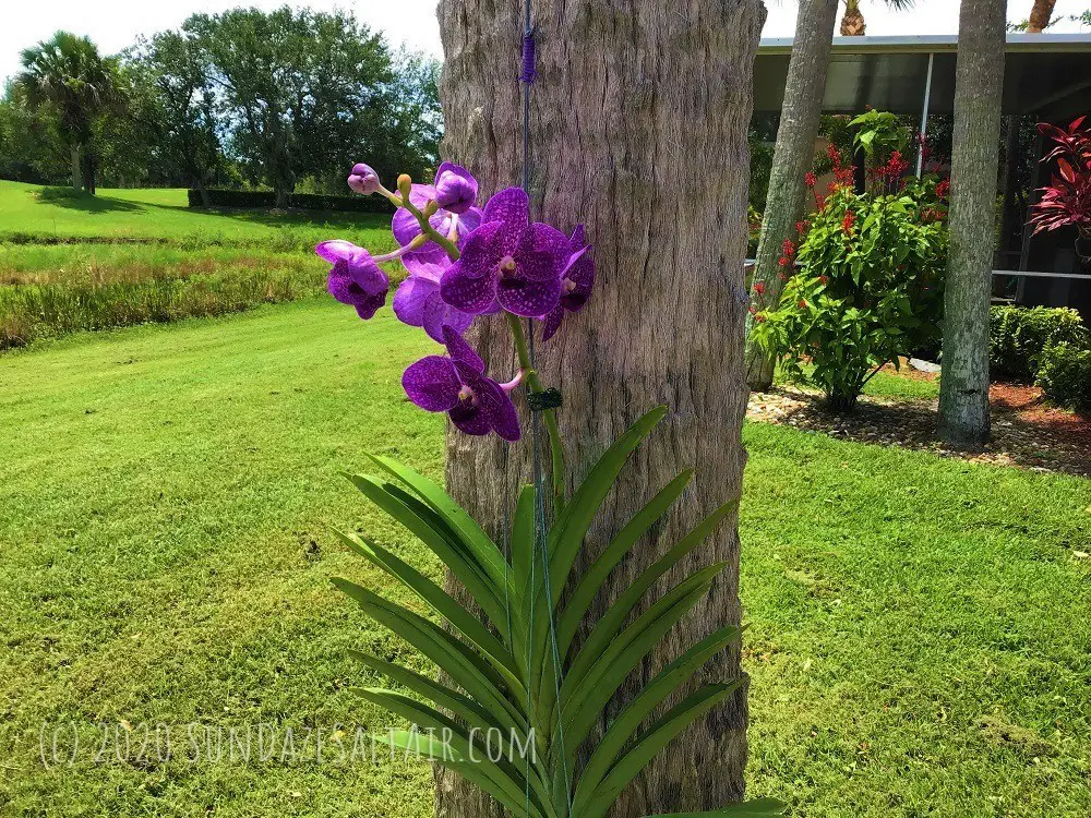
[[[516,77],[523,3],[441,0],[439,14],[444,153],[472,168],[483,193],[491,194],[520,178],[523,104]],[[537,219],[564,230],[586,224],[598,266],[587,308],[565,318],[561,333],[539,347],[543,381],[564,394],[560,423],[570,488],[639,416],[660,404],[671,409],[623,471],[576,575],[681,469],[694,466],[698,474],[655,538],[615,569],[589,621],[668,543],[740,496],[747,398],[746,133],[764,19],[760,0],[691,0],[683,7],[658,0],[535,1],[531,207]],[[516,370],[503,320],[479,318],[468,338],[491,373]],[[517,486],[529,479],[529,440],[509,446],[452,432],[448,489],[499,536]],[[634,674],[642,684],[676,655],[682,641],[740,619],[738,519],[732,516],[697,552],[675,569],[675,580],[715,561],[727,561],[729,568]],[[740,651],[732,648],[700,675],[707,682],[739,674]],[[614,712],[632,695],[633,683],[622,688]],[[616,816],[736,801],[745,762],[742,690],[657,759],[623,795]],[[443,818],[502,814],[439,769],[435,793]]]

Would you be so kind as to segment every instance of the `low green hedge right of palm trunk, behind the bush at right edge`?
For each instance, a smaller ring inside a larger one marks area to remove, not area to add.
[[[994,376],[1033,381],[1046,347],[1091,348],[1091,334],[1075,310],[994,306],[988,318],[988,365]]]

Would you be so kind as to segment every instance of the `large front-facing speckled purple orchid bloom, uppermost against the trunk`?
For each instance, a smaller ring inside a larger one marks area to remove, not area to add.
[[[440,296],[463,312],[490,312],[499,303],[515,315],[539,317],[558,305],[571,255],[568,238],[531,222],[527,194],[508,188],[484,206],[484,224],[443,274]]]

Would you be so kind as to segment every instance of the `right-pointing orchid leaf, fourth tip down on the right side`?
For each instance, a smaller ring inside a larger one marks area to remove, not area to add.
[[[659,643],[659,640],[685,616],[712,587],[714,577],[724,564],[712,565],[681,582],[676,589],[648,609],[622,631],[588,671],[582,683],[562,688],[561,719],[573,745],[587,737],[607,702],[625,677]],[[566,697],[566,698],[565,698]]]

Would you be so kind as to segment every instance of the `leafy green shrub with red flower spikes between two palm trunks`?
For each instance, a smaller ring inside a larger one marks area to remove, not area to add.
[[[794,248],[784,251],[782,277]],[[754,339],[783,358],[789,377],[819,387],[834,411],[851,411],[872,374],[938,337],[947,226],[935,184],[894,195],[836,188],[799,260],[777,309],[752,305]]]

